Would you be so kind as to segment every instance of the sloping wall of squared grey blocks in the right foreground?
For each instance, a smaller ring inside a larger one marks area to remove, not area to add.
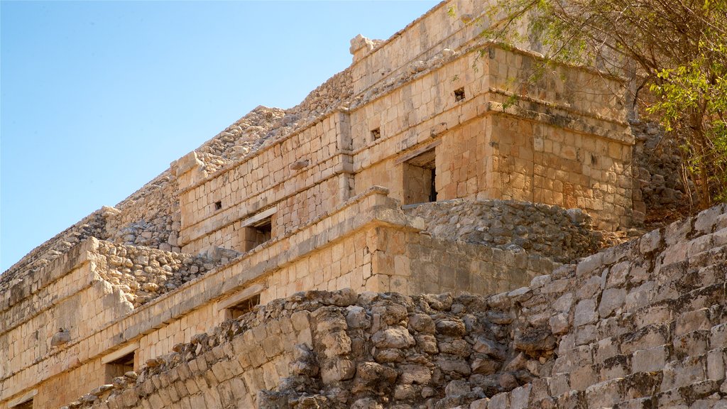
[[[725,209],[581,261],[550,376],[470,408],[727,408]]]

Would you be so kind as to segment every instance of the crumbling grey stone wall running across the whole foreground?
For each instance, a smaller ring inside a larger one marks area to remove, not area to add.
[[[244,368],[265,364],[250,363],[236,342],[257,333],[258,354],[274,356],[264,343],[281,334],[280,320],[305,314],[310,340],[294,347],[289,372],[275,372],[288,376],[262,390],[257,407],[722,408],[726,272],[722,204],[510,293],[298,293],[225,323],[206,344],[176,347],[86,405],[249,405],[266,382]],[[247,364],[236,378],[236,364],[223,362]],[[199,390],[180,387],[195,377],[205,380],[193,381]]]

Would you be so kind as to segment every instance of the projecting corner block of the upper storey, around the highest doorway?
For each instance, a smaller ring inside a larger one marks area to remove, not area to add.
[[[438,200],[579,207],[598,229],[628,226],[633,137],[620,119],[618,82],[560,67],[520,84],[537,64],[528,52],[480,44],[358,101],[350,109],[356,191],[377,183],[406,203],[401,162],[430,150]]]

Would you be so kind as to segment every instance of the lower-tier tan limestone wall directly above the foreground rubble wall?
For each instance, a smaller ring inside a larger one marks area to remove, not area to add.
[[[12,330],[0,337],[10,345],[12,370],[3,372],[2,402],[35,387],[36,402],[60,404],[83,386],[75,381],[79,374],[84,385],[108,381],[92,376],[105,368],[101,360],[108,354],[133,346],[138,368],[220,325],[228,308],[252,295],[268,303],[311,288],[493,292],[524,285],[557,265],[537,255],[432,238],[424,228],[422,218],[407,216],[376,187],[244,254],[218,249],[209,258],[195,257],[87,240],[44,274],[51,281],[37,294],[9,301],[4,317],[12,319]],[[68,333],[60,345],[50,341],[57,326]],[[39,342],[28,344],[28,333]],[[73,388],[58,393],[67,383]]]

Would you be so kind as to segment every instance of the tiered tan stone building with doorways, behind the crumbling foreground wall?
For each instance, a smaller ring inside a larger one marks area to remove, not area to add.
[[[593,253],[592,227],[628,227],[619,79],[527,81],[537,53],[450,5],[357,36],[300,106],[256,108],[6,271],[0,408],[60,407],[300,291],[499,293]],[[268,389],[287,373],[270,365]]]

